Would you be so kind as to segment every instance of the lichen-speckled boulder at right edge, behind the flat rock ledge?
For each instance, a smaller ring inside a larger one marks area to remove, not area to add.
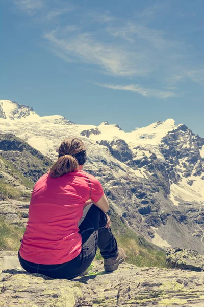
[[[168,268],[204,271],[204,256],[192,249],[169,248],[166,251]]]

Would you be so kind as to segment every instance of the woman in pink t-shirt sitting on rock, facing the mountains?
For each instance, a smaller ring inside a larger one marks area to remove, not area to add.
[[[58,160],[35,184],[29,220],[18,257],[30,273],[72,279],[93,261],[97,247],[106,271],[114,271],[125,253],[110,229],[108,200],[100,182],[83,171],[86,149],[65,139]]]

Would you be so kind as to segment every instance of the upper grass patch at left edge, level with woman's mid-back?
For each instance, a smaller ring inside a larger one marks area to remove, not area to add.
[[[4,183],[3,180],[0,180],[0,199],[29,201],[30,196],[31,196],[31,192],[21,191],[20,189],[14,186]]]

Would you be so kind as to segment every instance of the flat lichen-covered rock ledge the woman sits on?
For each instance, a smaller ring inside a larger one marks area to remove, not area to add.
[[[17,252],[3,252],[16,256]],[[0,254],[0,272],[3,267]],[[73,280],[50,279],[25,271],[0,273],[0,305],[33,307],[203,307],[204,273],[119,265],[107,274],[102,261],[94,261],[91,276]]]

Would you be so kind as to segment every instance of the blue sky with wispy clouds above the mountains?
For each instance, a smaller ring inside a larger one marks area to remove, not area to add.
[[[204,137],[203,0],[2,0],[0,99],[125,131]]]

